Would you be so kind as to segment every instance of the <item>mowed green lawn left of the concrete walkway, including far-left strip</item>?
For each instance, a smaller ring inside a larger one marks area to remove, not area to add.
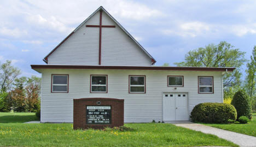
[[[30,113],[0,113],[0,146],[237,146],[171,124],[125,124],[132,131],[73,130],[72,124],[22,124]],[[7,123],[7,120],[10,123]],[[15,122],[15,120],[17,120]]]

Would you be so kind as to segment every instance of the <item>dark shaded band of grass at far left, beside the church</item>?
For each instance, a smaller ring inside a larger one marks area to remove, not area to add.
[[[0,116],[0,123],[22,123],[27,121],[39,120],[34,115],[4,115]]]

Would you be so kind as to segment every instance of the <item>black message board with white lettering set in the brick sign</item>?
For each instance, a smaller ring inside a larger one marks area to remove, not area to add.
[[[111,124],[111,106],[86,106],[86,124]]]

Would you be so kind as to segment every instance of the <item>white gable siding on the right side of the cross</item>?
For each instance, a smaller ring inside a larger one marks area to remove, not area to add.
[[[151,65],[150,57],[105,13],[102,14],[102,24],[116,26],[115,28],[102,28],[102,65]]]

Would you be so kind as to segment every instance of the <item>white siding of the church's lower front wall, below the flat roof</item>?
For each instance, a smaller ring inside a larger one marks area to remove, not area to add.
[[[51,74],[69,74],[69,93],[51,93]],[[108,75],[108,93],[90,93],[90,74]],[[146,93],[129,93],[129,75],[146,75]],[[167,87],[167,75],[184,75],[184,87]],[[197,93],[197,76],[213,76],[214,93]],[[222,103],[221,72],[163,70],[44,69],[42,71],[42,122],[73,122],[73,98],[121,98],[125,122],[162,120],[162,92],[188,92],[189,113],[202,102]]]

